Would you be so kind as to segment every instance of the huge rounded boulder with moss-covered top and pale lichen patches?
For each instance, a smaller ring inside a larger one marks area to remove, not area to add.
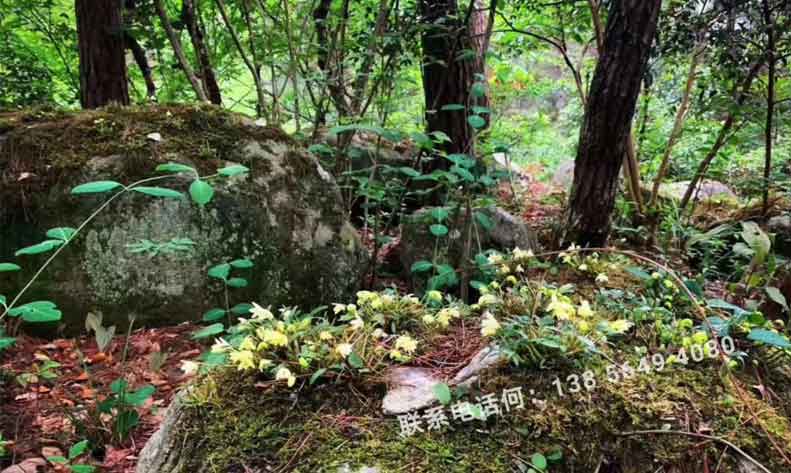
[[[348,297],[365,251],[347,222],[333,178],[287,135],[210,106],[108,108],[0,115],[0,261],[23,267],[0,274],[0,293],[14,296],[47,255],[14,252],[45,239],[48,229],[77,227],[111,194],[71,195],[81,183],[126,185],[178,162],[201,175],[242,164],[248,174],[212,179],[212,201],[190,202],[192,177],[148,185],[185,194],[162,199],[137,193],[112,202],[52,262],[21,302],[48,299],[69,328],[101,311],[109,323],[170,324],[198,320],[225,305],[222,284],[207,277],[218,263],[248,258],[235,270],[248,280],[230,303],[313,307]],[[132,251],[143,240],[194,242],[188,252]]]

